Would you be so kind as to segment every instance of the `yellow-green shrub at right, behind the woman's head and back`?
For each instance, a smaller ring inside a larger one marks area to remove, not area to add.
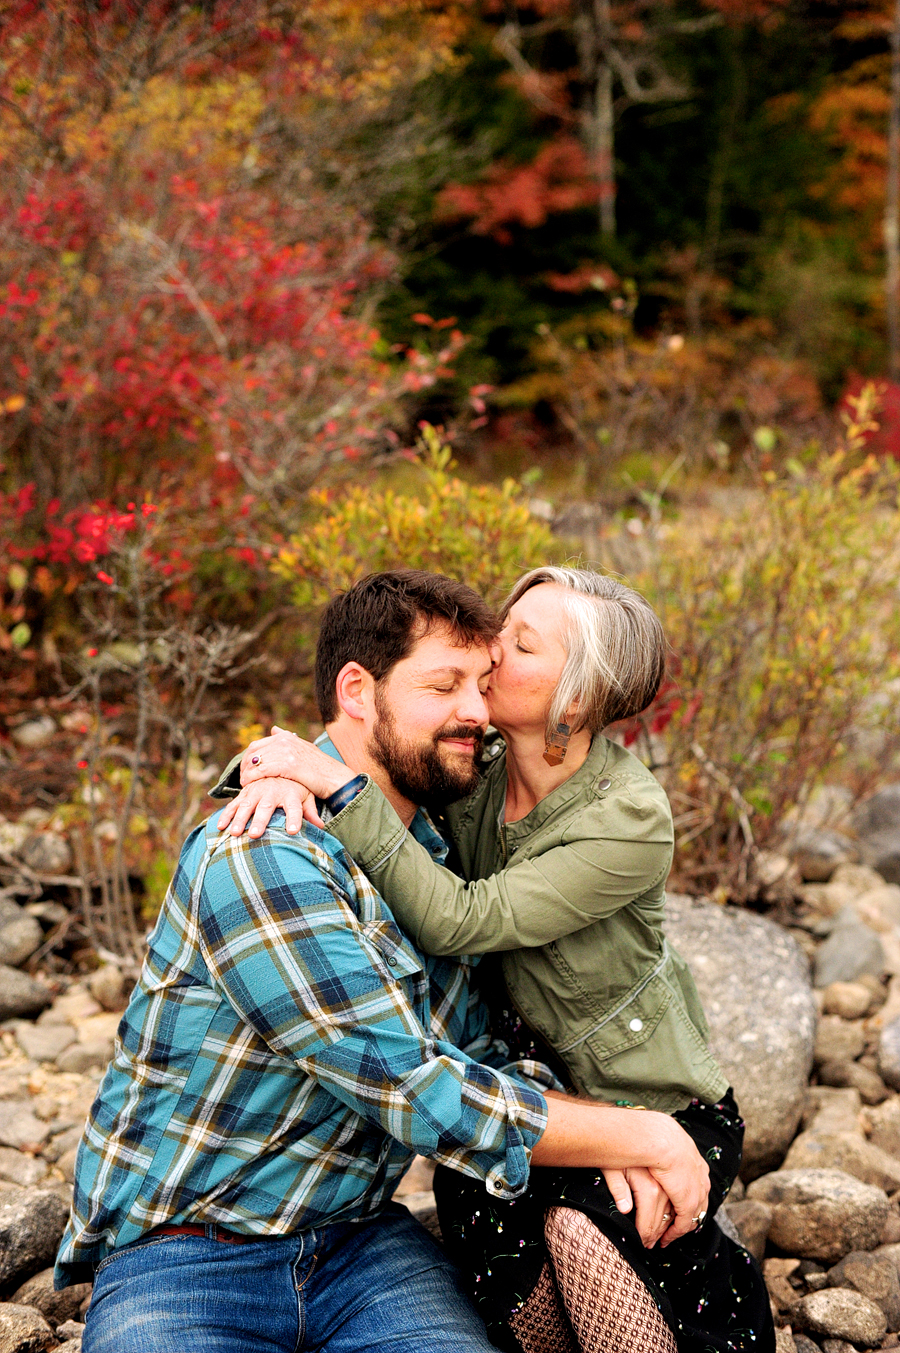
[[[866,418],[861,405],[849,445],[769,474],[736,515],[670,528],[635,578],[673,648],[643,724],[665,736],[686,884],[750,896],[758,848],[823,779],[863,790],[896,751],[900,467],[859,463]]]

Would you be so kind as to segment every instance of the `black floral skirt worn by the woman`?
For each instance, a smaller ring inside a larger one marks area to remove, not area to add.
[[[731,1095],[693,1100],[673,1115],[709,1165],[708,1216],[665,1250],[644,1249],[633,1212],[620,1212],[597,1170],[532,1169],[528,1193],[501,1201],[483,1184],[438,1168],[434,1195],[447,1252],[501,1349],[517,1350],[506,1325],[531,1295],[548,1258],[548,1207],[583,1212],[616,1245],[646,1284],[678,1344],[678,1353],[773,1353],[775,1331],[757,1261],[715,1222],[740,1168],[743,1120]]]

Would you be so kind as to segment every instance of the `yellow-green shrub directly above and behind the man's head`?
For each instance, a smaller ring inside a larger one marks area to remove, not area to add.
[[[318,606],[384,568],[451,574],[497,601],[524,570],[559,555],[559,541],[532,517],[521,484],[506,479],[498,488],[457,479],[449,448],[429,425],[420,445],[420,494],[359,486],[313,495],[321,514],[272,564],[292,583],[298,607]]]

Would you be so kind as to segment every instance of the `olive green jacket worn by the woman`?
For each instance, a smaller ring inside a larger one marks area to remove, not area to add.
[[[683,959],[663,934],[673,823],[659,782],[595,737],[585,764],[521,821],[503,823],[506,750],[448,823],[463,882],[434,865],[378,786],[328,824],[429,954],[502,951],[509,993],[572,1085],[674,1112],[728,1081]]]

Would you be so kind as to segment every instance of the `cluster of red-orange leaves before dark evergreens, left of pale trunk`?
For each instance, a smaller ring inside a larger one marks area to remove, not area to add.
[[[552,212],[589,206],[597,196],[583,147],[574,137],[558,137],[529,165],[501,162],[476,183],[449,184],[438,212],[448,219],[471,216],[475,234],[508,244],[509,226],[541,226]]]

